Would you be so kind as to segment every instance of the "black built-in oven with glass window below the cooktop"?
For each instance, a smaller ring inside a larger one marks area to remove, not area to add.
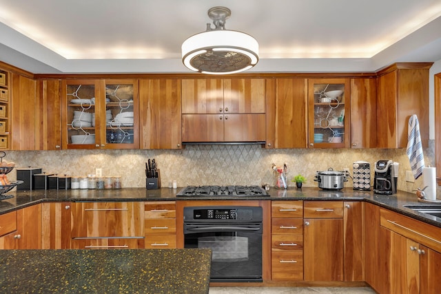
[[[184,247],[212,249],[210,282],[262,282],[262,207],[184,207]]]

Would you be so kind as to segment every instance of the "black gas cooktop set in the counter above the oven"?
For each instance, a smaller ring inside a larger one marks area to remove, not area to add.
[[[268,196],[258,186],[187,186],[176,196]]]

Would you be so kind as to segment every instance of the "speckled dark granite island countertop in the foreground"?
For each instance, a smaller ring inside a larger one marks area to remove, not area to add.
[[[209,249],[0,250],[8,293],[208,293]]]

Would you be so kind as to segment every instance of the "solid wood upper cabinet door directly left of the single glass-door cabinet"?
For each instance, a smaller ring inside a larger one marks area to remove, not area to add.
[[[267,148],[307,147],[307,79],[267,78]]]

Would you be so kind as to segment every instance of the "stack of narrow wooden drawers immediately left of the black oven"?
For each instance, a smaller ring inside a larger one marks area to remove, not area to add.
[[[176,248],[176,202],[145,202],[146,249]]]

